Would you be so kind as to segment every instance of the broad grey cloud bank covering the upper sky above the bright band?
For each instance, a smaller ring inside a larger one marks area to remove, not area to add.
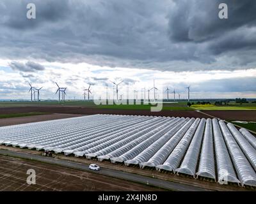
[[[36,4],[36,19],[26,4]],[[228,4],[228,19],[218,4]],[[0,56],[169,71],[255,68],[252,0],[0,3]]]

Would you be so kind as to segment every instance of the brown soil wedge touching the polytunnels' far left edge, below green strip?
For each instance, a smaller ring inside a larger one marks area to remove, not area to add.
[[[40,122],[45,120],[66,119],[68,117],[78,117],[78,116],[82,116],[82,115],[53,113],[53,114],[45,114],[45,115],[31,115],[26,117],[11,117],[7,119],[0,119],[0,127],[24,124],[29,122]]]

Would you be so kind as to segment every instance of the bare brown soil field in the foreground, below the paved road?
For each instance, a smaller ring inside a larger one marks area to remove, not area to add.
[[[36,184],[28,185],[28,169],[36,171]],[[163,191],[126,180],[70,168],[0,156],[0,191]]]

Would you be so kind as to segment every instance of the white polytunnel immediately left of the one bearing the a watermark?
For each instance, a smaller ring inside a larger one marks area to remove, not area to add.
[[[211,119],[206,120],[200,163],[196,175],[216,180]]]

